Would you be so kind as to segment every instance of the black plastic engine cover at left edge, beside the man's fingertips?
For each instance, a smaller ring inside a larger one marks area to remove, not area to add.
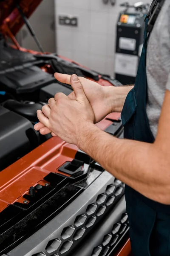
[[[34,148],[35,136],[30,121],[0,106],[0,171]]]

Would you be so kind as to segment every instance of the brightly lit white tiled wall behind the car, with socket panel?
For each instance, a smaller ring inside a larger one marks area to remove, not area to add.
[[[57,53],[113,76],[116,23],[124,2],[117,0],[111,6],[102,0],[55,0]],[[79,26],[60,26],[59,15],[76,15]]]

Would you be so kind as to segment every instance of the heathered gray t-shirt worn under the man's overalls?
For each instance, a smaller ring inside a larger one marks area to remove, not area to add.
[[[156,137],[165,90],[170,90],[170,0],[165,0],[149,38],[147,83],[147,116]]]

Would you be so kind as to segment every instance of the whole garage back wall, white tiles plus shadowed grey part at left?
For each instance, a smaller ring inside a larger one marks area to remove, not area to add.
[[[130,0],[130,4],[136,2]],[[43,0],[29,20],[45,51],[57,52],[113,76],[116,25],[125,9],[121,3],[125,0],[117,0],[113,6],[110,1],[105,4],[102,0]],[[60,16],[77,17],[77,26],[59,24]],[[23,47],[38,50],[25,26],[17,39]]]

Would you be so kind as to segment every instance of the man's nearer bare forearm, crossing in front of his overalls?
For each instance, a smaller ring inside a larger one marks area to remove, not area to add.
[[[170,204],[167,195],[167,191],[170,190],[168,164],[154,144],[120,140],[94,125],[85,130],[79,144],[82,151],[89,154],[113,176],[144,196]]]

